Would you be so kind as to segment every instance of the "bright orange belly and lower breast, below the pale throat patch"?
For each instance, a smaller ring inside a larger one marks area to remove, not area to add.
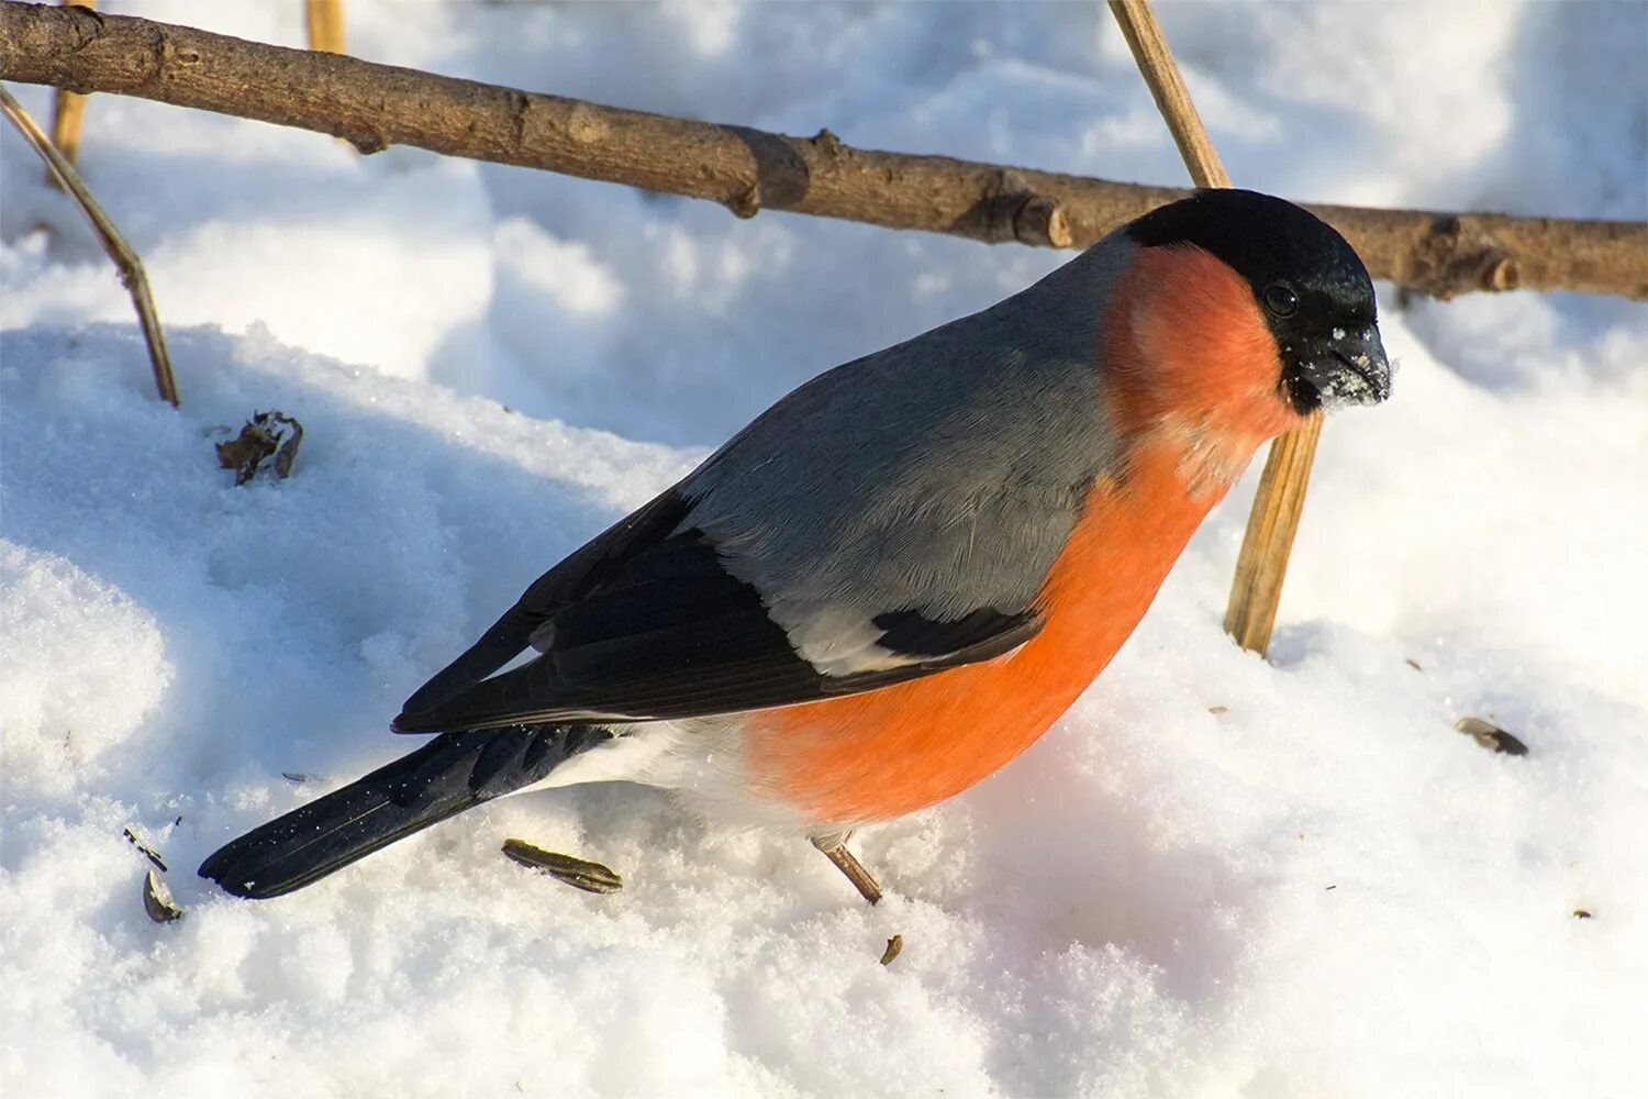
[[[750,715],[751,784],[811,821],[865,824],[931,806],[1007,765],[1109,664],[1224,494],[1223,484],[1192,494],[1178,466],[1175,448],[1150,448],[1124,483],[1094,484],[1042,590],[1046,624],[1012,654]]]

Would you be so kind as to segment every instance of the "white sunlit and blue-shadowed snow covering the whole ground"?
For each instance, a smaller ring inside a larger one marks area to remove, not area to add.
[[[302,41],[292,0],[140,13]],[[1641,5],[1160,15],[1246,185],[1648,214]],[[1101,5],[348,16],[371,59],[1183,178]],[[1404,369],[1323,435],[1272,661],[1220,631],[1249,471],[1051,733],[855,839],[873,910],[806,845],[626,786],[494,802],[247,903],[193,867],[404,751],[400,699],[527,580],[799,381],[1061,257],[109,96],[82,165],[147,259],[183,409],[0,137],[5,1094],[1635,1094],[1640,303],[1384,287]],[[211,447],[265,409],[307,428],[295,475],[234,488]],[[181,921],[143,916],[127,825]],[[534,877],[511,835],[625,890]]]

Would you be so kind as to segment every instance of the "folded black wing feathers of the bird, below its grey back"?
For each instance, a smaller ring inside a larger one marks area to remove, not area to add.
[[[987,661],[1042,628],[1033,610],[933,621],[875,618],[897,667],[827,676],[801,657],[760,593],[730,575],[664,493],[541,577],[476,644],[414,694],[394,728],[433,733],[524,722],[639,722],[859,694]],[[486,679],[534,643],[544,654]]]

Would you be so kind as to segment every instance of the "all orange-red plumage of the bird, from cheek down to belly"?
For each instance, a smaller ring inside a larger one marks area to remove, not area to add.
[[[1103,318],[1101,376],[1126,460],[1088,491],[1017,651],[883,690],[753,713],[760,793],[816,822],[913,812],[1028,748],[1109,664],[1185,542],[1261,442],[1297,417],[1249,287],[1193,247],[1147,249]]]

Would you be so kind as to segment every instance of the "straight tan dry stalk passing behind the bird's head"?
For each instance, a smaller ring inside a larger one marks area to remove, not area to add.
[[[1167,38],[1150,10],[1150,0],[1111,0],[1111,12],[1121,23],[1122,36],[1132,48],[1139,71],[1150,86],[1155,105],[1185,158],[1185,166],[1190,168],[1192,181],[1196,186],[1229,186],[1231,178],[1201,125],[1185,81],[1178,76]],[[1236,644],[1259,656],[1271,648],[1276,606],[1282,600],[1287,557],[1294,549],[1294,534],[1299,532],[1299,516],[1305,506],[1305,486],[1310,483],[1310,463],[1315,460],[1320,433],[1322,417],[1313,415],[1271,445],[1259,478],[1259,494],[1248,516],[1248,534],[1236,557],[1236,577],[1224,608],[1224,629],[1236,638]]]

